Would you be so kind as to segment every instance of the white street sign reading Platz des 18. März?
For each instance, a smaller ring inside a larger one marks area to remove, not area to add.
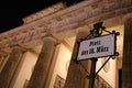
[[[112,56],[116,54],[116,34],[107,34],[92,40],[81,41],[77,61]]]

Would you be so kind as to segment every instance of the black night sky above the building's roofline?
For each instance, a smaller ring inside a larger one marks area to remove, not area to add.
[[[23,24],[22,18],[63,1],[67,7],[82,0],[1,0],[0,33]]]

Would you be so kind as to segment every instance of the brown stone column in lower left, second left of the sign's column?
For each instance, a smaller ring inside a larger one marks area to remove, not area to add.
[[[21,61],[23,50],[14,47],[0,74],[0,88],[9,88]]]

